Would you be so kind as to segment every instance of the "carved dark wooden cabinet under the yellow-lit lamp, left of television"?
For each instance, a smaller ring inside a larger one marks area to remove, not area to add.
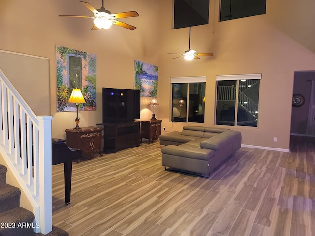
[[[95,126],[66,129],[67,146],[82,149],[85,158],[92,158],[97,152],[102,156],[102,130],[103,128]]]

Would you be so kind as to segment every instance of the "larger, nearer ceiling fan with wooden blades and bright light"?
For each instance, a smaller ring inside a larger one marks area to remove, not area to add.
[[[126,29],[130,29],[130,30],[136,29],[136,27],[134,26],[131,26],[129,24],[116,20],[119,18],[139,16],[139,14],[136,11],[128,11],[128,12],[112,14],[110,11],[104,8],[104,0],[102,0],[102,7],[97,10],[88,2],[84,2],[84,1],[80,1],[80,2],[84,6],[86,6],[90,11],[92,11],[94,13],[94,16],[77,16],[77,15],[59,15],[59,16],[94,19],[93,21],[94,26],[92,27],[92,30],[108,29],[111,27],[112,24],[124,27]]]

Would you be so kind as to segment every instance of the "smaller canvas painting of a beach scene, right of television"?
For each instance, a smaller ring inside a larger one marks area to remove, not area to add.
[[[140,90],[142,97],[157,97],[158,66],[135,60],[134,89]]]

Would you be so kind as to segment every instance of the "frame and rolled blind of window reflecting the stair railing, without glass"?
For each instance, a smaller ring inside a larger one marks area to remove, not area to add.
[[[261,81],[262,74],[240,74],[240,75],[217,75],[216,76],[216,100],[215,100],[215,112],[214,112],[214,125],[224,125],[224,124],[217,124],[217,106],[218,106],[218,81],[236,81],[236,94],[235,94],[235,108],[238,107],[239,103],[239,81],[241,80],[260,80]],[[259,83],[260,83],[259,81]],[[258,114],[259,114],[259,98],[260,98],[260,84],[259,84],[259,91],[258,91]],[[228,125],[225,124],[224,126],[238,126],[238,127],[252,127],[258,128],[259,127],[259,116],[257,118],[257,126],[251,125],[238,125],[238,109],[234,111],[234,124]]]

